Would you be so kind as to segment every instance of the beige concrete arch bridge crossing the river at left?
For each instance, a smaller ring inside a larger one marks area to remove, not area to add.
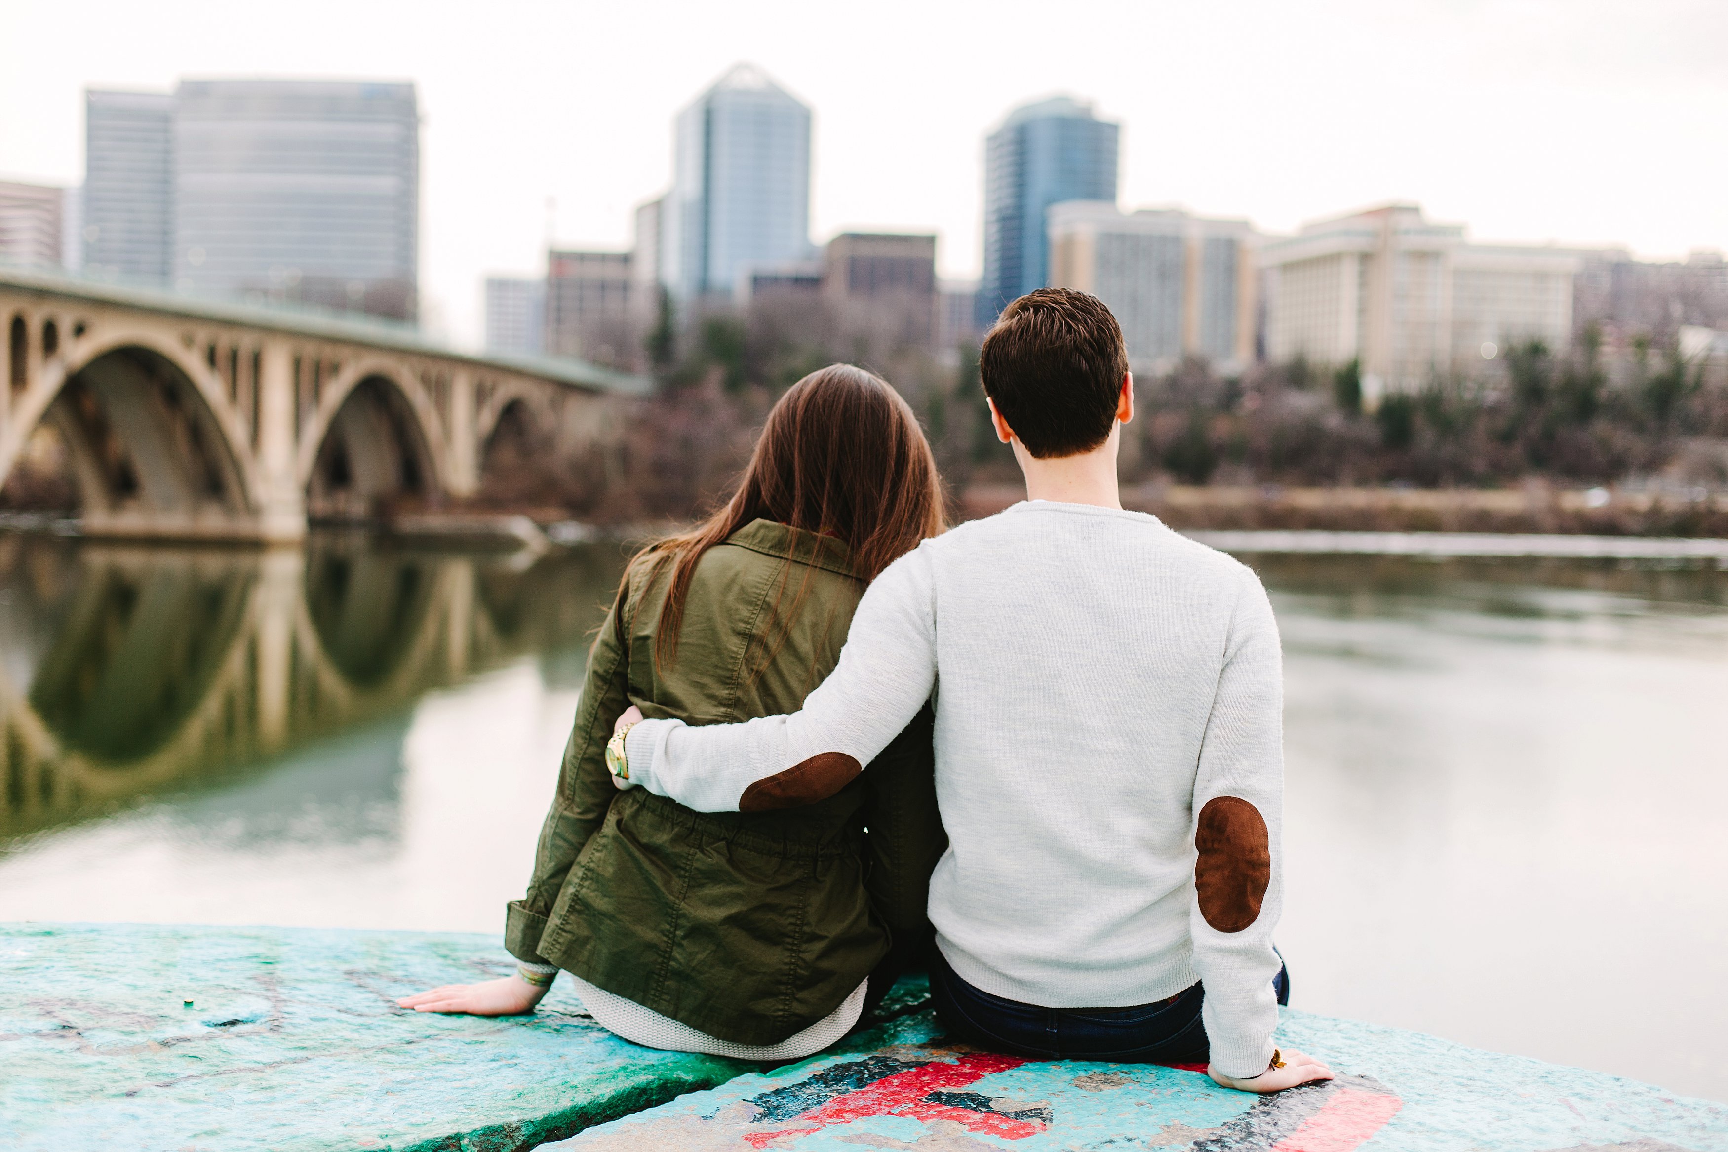
[[[90,535],[297,541],[477,492],[501,421],[605,453],[648,382],[413,330],[0,266],[0,484],[67,446]]]

